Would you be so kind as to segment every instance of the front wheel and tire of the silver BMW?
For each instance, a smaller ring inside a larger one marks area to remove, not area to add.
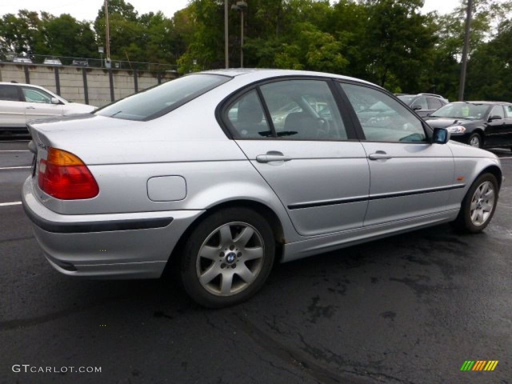
[[[477,233],[485,229],[494,216],[498,202],[498,181],[493,174],[480,175],[468,189],[454,221],[455,229]]]

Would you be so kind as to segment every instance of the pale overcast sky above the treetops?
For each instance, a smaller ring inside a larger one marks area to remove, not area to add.
[[[139,15],[148,12],[162,11],[170,18],[176,11],[183,9],[189,0],[125,0],[134,6]],[[236,3],[235,0],[227,0],[230,3]],[[250,0],[246,0],[250,7]],[[336,0],[332,0],[331,3]],[[461,3],[461,0],[425,0],[423,10],[430,12],[437,10],[439,13],[450,13]],[[0,16],[6,13],[16,14],[20,9],[29,11],[46,11],[55,16],[62,13],[69,13],[79,21],[93,21],[100,7],[104,4],[103,0],[0,0]]]

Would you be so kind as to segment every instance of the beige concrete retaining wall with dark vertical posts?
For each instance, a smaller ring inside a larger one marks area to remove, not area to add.
[[[0,81],[45,87],[70,101],[102,106],[176,78],[172,72],[0,63]]]

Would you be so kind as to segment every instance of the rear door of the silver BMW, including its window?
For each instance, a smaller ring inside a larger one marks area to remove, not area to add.
[[[332,86],[281,79],[245,91],[224,109],[237,144],[304,236],[359,228],[368,205],[366,154]]]

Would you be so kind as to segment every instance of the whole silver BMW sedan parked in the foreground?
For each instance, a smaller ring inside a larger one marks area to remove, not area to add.
[[[492,153],[326,73],[202,72],[29,125],[23,205],[50,264],[90,278],[169,264],[207,307],[246,300],[275,260],[444,222],[479,232],[502,182]]]

